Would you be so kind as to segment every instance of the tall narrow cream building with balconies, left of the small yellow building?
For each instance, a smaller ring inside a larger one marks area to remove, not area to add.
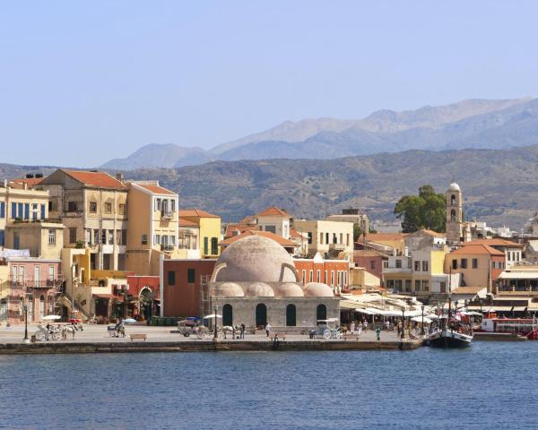
[[[178,258],[178,194],[158,181],[128,184],[126,270],[158,275],[160,260]]]

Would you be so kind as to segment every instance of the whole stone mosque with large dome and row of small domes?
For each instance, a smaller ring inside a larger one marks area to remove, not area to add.
[[[299,281],[291,255],[265,236],[246,236],[227,246],[209,284],[224,325],[244,323],[292,332],[317,320],[340,317],[340,300],[326,284]]]

